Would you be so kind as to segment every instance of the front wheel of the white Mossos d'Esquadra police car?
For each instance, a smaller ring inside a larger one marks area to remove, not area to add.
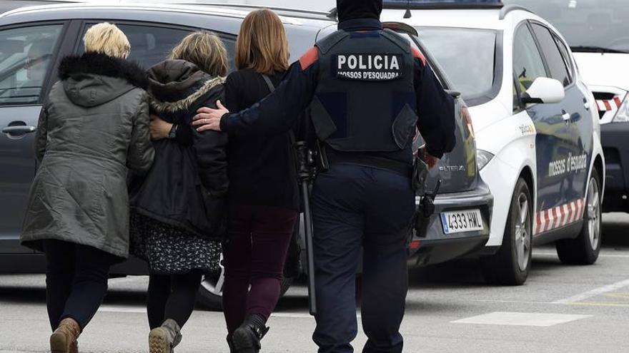
[[[533,198],[526,181],[517,180],[500,250],[480,258],[485,281],[492,285],[523,285],[528,277],[533,245]]]

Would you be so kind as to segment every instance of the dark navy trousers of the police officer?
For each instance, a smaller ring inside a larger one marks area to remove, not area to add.
[[[360,165],[332,165],[312,191],[320,353],[353,352],[355,272],[364,248],[363,352],[402,352],[408,289],[407,237],[415,210],[410,178]]]

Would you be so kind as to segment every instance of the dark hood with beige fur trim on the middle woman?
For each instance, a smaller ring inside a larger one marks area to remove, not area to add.
[[[194,63],[167,60],[149,69],[151,108],[157,113],[188,111],[200,98],[218,89],[224,77],[212,77]]]

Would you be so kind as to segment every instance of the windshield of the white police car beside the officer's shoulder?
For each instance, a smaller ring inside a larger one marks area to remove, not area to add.
[[[417,31],[466,103],[485,103],[482,97],[490,96],[494,81],[496,31],[442,27]]]

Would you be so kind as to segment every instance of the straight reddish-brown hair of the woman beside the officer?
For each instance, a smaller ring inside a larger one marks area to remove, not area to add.
[[[253,11],[242,21],[236,41],[236,67],[272,74],[288,69],[288,39],[284,24],[273,11]]]

